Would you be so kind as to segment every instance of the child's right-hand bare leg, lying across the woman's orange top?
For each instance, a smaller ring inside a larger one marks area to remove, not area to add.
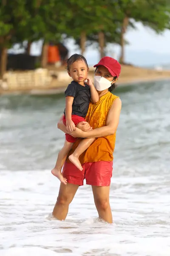
[[[71,154],[68,158],[69,160],[80,170],[82,171],[82,165],[79,161],[79,156],[94,142],[94,138],[88,138],[82,140],[73,154]]]

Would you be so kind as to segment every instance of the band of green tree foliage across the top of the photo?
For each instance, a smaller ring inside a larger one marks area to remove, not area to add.
[[[123,20],[128,27],[141,21],[156,32],[170,29],[169,0],[0,0],[0,45],[24,40],[60,41],[62,35],[79,44],[86,32],[89,41],[103,31],[106,42],[120,44]]]

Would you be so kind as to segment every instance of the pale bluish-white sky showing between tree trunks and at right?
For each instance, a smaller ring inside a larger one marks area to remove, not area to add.
[[[140,52],[141,54],[146,55],[146,57],[148,52],[151,52],[152,56],[156,56],[156,54],[158,54],[158,56],[162,55],[162,58],[160,58],[161,63],[164,60],[164,55],[170,56],[170,30],[164,31],[161,35],[157,35],[152,29],[144,27],[142,23],[135,23],[135,25],[136,29],[129,29],[125,35],[125,39],[129,42],[129,45],[125,47],[125,52],[129,53],[126,57],[127,62],[131,61],[133,62],[132,64],[137,64],[135,63],[134,58],[130,58],[130,55],[132,55],[133,52]],[[79,48],[74,45],[74,40],[68,40],[68,42],[66,42],[66,47],[69,49],[69,55],[75,52],[80,53]],[[107,55],[119,59],[119,53],[119,46],[114,44],[108,45]],[[40,46],[33,44],[31,47],[31,54],[39,55]],[[89,65],[92,65],[99,60],[99,51],[96,44],[87,48],[85,57],[87,58]],[[167,60],[165,62],[167,63]],[[152,61],[150,63],[152,63]]]

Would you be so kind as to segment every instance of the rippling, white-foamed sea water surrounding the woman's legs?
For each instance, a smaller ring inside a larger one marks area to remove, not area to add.
[[[51,175],[65,134],[64,94],[0,99],[2,256],[169,256],[169,81],[121,85],[110,203],[99,222],[91,186],[79,187],[65,221],[51,218]]]

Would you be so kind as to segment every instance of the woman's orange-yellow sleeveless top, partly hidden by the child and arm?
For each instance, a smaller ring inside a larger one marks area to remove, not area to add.
[[[93,129],[106,125],[108,112],[116,98],[119,97],[108,92],[103,95],[97,103],[90,103],[85,119],[93,127]],[[80,138],[77,139],[69,155],[74,152],[75,148],[77,148],[81,140],[82,139]],[[83,164],[87,162],[112,161],[115,140],[116,133],[106,137],[96,138],[94,143],[92,143],[89,148],[79,157],[80,163]],[[67,161],[69,162],[69,160]]]

